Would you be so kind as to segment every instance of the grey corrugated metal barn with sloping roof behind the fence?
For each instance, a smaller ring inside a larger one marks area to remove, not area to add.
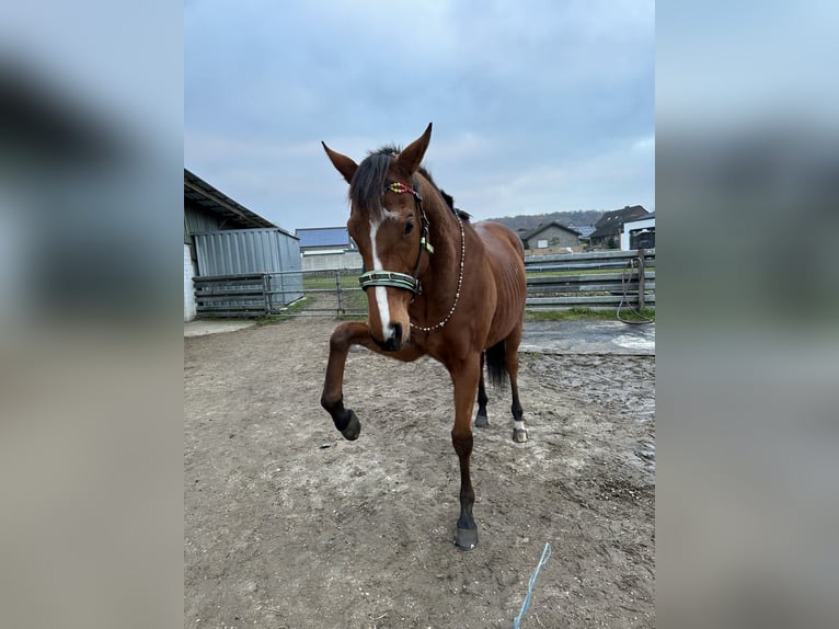
[[[195,278],[260,277],[275,305],[302,296],[300,241],[184,169],[184,321],[210,314],[196,299]],[[232,306],[241,300],[216,302]]]

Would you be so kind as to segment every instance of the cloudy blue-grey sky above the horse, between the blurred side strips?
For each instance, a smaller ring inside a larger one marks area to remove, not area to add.
[[[360,162],[428,123],[474,220],[655,209],[655,3],[187,0],[184,165],[277,226],[335,227]]]

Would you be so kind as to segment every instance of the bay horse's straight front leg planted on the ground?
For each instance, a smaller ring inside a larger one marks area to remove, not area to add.
[[[455,545],[462,550],[472,550],[478,544],[478,525],[472,517],[475,493],[469,473],[469,459],[472,455],[472,408],[480,367],[480,358],[475,354],[473,359],[449,369],[455,384],[455,427],[451,430],[451,444],[460,462],[460,517],[455,531]]]

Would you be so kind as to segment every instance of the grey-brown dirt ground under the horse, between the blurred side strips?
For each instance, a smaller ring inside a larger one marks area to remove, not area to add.
[[[430,359],[354,350],[346,442],[319,404],[335,321],[184,340],[184,625],[654,627],[655,357],[521,356],[475,428],[480,541],[459,513],[451,385]]]

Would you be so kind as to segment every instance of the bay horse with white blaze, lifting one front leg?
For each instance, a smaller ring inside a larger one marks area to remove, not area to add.
[[[367,321],[345,322],[330,338],[321,405],[341,434],[358,438],[361,423],[344,407],[343,378],[352,345],[400,361],[432,356],[449,371],[455,388],[451,443],[460,462],[460,517],[455,544],[478,544],[469,474],[471,416],[487,426],[484,364],[494,385],[509,377],[513,439],[527,441],[518,397],[518,345],[527,285],[524,247],[509,228],[472,225],[421,165],[432,125],[403,150],[383,147],[357,164],[323,145],[349,184],[347,229],[358,244],[365,272]]]

